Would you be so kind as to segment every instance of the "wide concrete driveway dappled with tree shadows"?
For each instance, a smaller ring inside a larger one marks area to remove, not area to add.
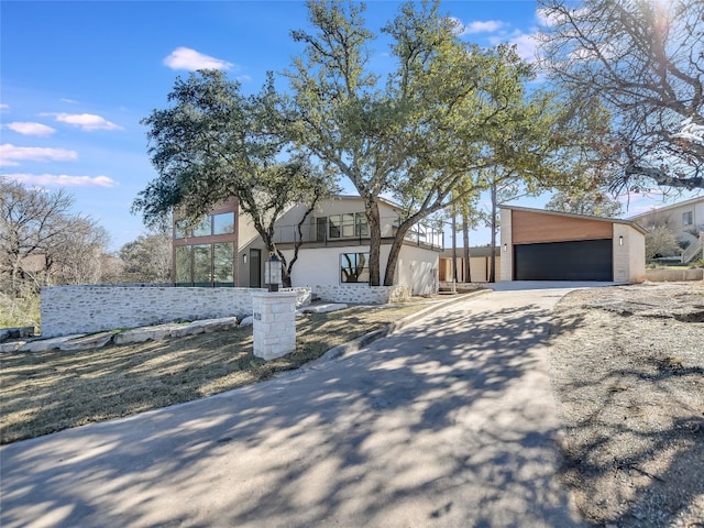
[[[454,302],[305,372],[0,450],[0,525],[570,527],[544,340],[569,288]]]

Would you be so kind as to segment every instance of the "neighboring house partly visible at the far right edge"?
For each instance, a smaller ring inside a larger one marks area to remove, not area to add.
[[[638,223],[649,230],[658,227],[670,229],[678,241],[685,246],[682,255],[684,262],[702,255],[702,242],[704,239],[704,196],[689,200],[651,209],[648,212],[636,215],[628,220]]]

